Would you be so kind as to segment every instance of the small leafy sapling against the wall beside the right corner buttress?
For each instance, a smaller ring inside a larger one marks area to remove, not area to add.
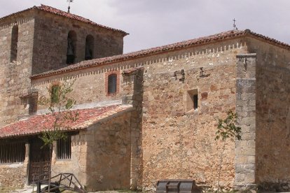
[[[219,119],[217,125],[216,137],[214,140],[221,140],[223,142],[223,148],[221,150],[221,155],[219,159],[219,176],[218,176],[218,190],[220,189],[220,178],[221,178],[221,166],[223,164],[223,152],[226,147],[226,140],[230,139],[234,141],[235,138],[240,140],[242,136],[240,135],[242,132],[241,127],[237,127],[237,113],[234,113],[232,110],[229,110],[227,113],[227,117],[225,119]]]

